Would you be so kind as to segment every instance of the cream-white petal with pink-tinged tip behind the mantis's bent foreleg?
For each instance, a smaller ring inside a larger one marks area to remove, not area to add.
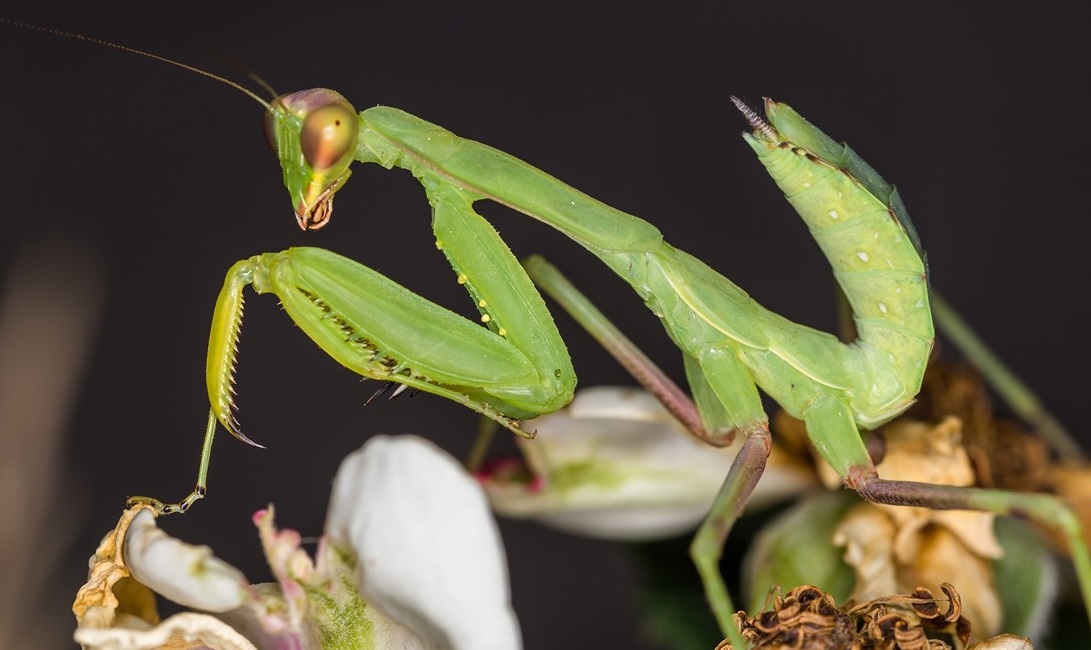
[[[716,448],[694,440],[646,390],[583,388],[561,411],[527,423],[525,462],[479,473],[493,509],[612,540],[654,540],[693,530],[708,514],[742,440]],[[774,448],[751,507],[817,484],[814,470]]]

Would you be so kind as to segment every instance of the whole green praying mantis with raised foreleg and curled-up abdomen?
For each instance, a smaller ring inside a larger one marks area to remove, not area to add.
[[[788,106],[767,101],[763,117],[735,100],[752,128],[746,143],[807,222],[852,305],[859,333],[852,344],[765,310],[708,265],[664,242],[651,224],[503,152],[394,108],[357,112],[328,89],[272,103],[244,92],[266,110],[302,228],[329,221],[334,195],[352,162],[410,171],[432,205],[436,246],[480,318],[468,321],[322,249],[289,249],[237,263],[213,316],[206,371],[212,408],[196,488],[175,504],[134,501],[176,513],[202,498],[217,423],[255,444],[242,433],[232,399],[248,285],[276,294],[309,337],[362,376],[459,401],[520,435],[529,435],[523,419],[566,405],[575,372],[531,276],[562,297],[564,285],[540,260],[528,263],[528,275],[473,209],[476,202],[491,200],[560,230],[628,282],[682,350],[709,442],[746,438],[692,546],[719,625],[736,648],[744,643],[718,561],[771,445],[759,388],[806,423],[819,454],[865,498],[1024,515],[1058,528],[1069,542],[1084,602],[1091,603],[1091,558],[1079,521],[1058,499],[877,476],[861,432],[910,406],[933,344],[924,255],[892,185]]]

